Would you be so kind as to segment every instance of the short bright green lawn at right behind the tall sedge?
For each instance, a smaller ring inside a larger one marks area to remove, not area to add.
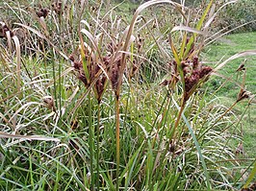
[[[224,36],[206,48],[205,60],[218,62],[219,60],[226,60],[231,56],[243,52],[244,50],[253,50],[256,47],[256,33],[242,33]],[[219,73],[226,78],[232,77],[232,80],[242,83],[242,74],[236,72],[239,65],[244,59],[230,61],[223,67]],[[246,90],[256,93],[256,57],[247,57],[245,62],[246,68]],[[217,89],[219,84],[225,80],[219,77],[213,78],[208,84],[210,88]],[[220,90],[218,90],[218,97],[225,106],[231,106],[240,91],[240,87],[233,82],[227,82]],[[239,103],[234,111],[238,116],[243,114],[244,108],[247,107],[246,103]],[[243,141],[244,150],[248,157],[256,157],[254,148],[256,147],[256,105],[252,103],[242,120],[243,127]]]

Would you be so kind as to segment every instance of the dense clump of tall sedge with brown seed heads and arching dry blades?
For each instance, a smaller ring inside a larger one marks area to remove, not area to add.
[[[239,177],[241,158],[229,143],[242,139],[232,133],[232,109],[254,97],[243,81],[237,100],[224,107],[218,98],[209,101],[207,81],[230,60],[256,51],[216,68],[202,63],[220,12],[213,0],[194,15],[184,1],[148,1],[131,21],[116,16],[120,5],[110,3],[33,2],[26,9],[28,2],[5,1],[1,7],[12,12],[26,43],[13,39],[13,57],[6,35],[13,29],[2,27],[0,188],[248,187],[254,168]]]

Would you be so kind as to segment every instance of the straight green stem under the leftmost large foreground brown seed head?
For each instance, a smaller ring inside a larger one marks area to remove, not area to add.
[[[92,130],[92,116],[91,116],[91,99],[90,92],[88,95],[89,99],[89,142],[90,142],[90,185],[91,190],[94,190],[94,175],[93,175],[93,130]]]

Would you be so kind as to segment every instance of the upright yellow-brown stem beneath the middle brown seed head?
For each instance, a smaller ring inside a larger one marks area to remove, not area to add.
[[[115,140],[116,140],[116,191],[119,190],[119,165],[120,165],[120,120],[119,98],[115,99]]]

